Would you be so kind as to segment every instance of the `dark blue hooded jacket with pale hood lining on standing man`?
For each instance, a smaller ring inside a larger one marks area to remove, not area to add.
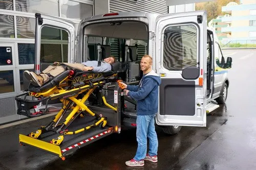
[[[127,95],[137,100],[137,115],[151,115],[157,113],[158,87],[160,84],[160,77],[152,70],[143,75],[139,85],[127,85],[127,90],[130,90]]]

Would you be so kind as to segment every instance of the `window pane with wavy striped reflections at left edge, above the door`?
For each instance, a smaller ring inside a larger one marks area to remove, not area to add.
[[[0,37],[14,38],[14,17],[0,14]]]

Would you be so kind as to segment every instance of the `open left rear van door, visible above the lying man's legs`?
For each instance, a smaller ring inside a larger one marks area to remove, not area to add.
[[[74,23],[39,13],[35,17],[35,72],[38,74],[55,61],[73,63]]]

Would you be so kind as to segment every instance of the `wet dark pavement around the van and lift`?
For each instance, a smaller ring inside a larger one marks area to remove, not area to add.
[[[225,50],[232,57],[226,105],[207,115],[207,127],[182,127],[177,135],[157,128],[158,163],[127,167],[136,149],[135,129],[81,148],[65,161],[18,143],[51,117],[0,129],[0,169],[256,169],[256,50]]]

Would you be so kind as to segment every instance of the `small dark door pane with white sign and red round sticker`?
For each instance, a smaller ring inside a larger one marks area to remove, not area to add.
[[[12,47],[0,46],[0,65],[12,65]]]

